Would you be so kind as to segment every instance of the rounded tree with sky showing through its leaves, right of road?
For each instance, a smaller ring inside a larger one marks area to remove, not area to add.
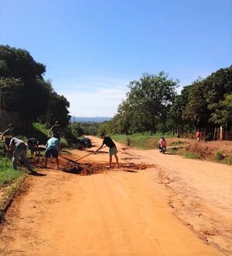
[[[101,124],[97,132],[132,134],[164,129],[177,85],[178,81],[169,79],[164,72],[142,74],[142,78],[128,85],[127,99],[118,106],[111,122]]]

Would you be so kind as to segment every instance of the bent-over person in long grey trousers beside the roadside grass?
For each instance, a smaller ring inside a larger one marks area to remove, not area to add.
[[[18,138],[13,137],[12,140],[10,141],[10,144],[9,144],[9,150],[14,152],[13,157],[12,157],[12,163],[13,163],[13,168],[15,170],[17,170],[17,161],[19,160],[19,157],[21,157],[25,167],[31,173],[36,172],[36,171],[33,171],[31,165],[29,164],[29,161],[27,160],[26,144],[22,140],[19,140]]]

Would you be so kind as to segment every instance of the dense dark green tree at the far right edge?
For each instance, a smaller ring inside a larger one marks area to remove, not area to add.
[[[194,126],[231,120],[232,66],[193,82],[183,119]]]

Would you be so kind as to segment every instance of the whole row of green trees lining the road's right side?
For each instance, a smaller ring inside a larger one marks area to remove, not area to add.
[[[193,81],[176,93],[178,81],[161,72],[131,81],[125,101],[110,122],[99,126],[107,133],[193,130],[232,122],[232,66]],[[231,123],[232,125],[232,123]]]

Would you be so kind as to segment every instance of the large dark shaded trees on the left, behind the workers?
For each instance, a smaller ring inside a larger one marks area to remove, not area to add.
[[[26,127],[38,118],[53,124],[56,119],[69,123],[69,102],[54,92],[51,82],[43,79],[46,67],[36,62],[28,51],[0,46],[0,92],[2,109],[19,112]]]

